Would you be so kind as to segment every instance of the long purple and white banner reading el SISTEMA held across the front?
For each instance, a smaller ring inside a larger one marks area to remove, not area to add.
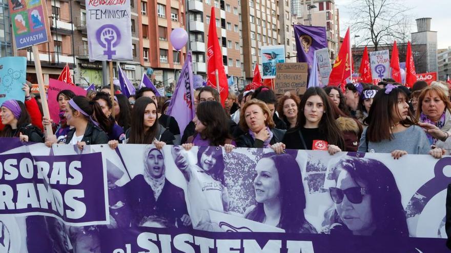
[[[447,252],[449,156],[0,147],[0,252]]]

